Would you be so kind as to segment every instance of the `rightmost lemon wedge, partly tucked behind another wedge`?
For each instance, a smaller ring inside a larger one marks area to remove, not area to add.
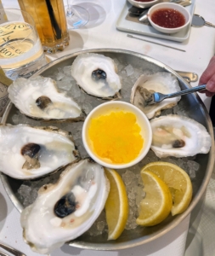
[[[167,162],[152,162],[141,170],[153,172],[163,180],[173,197],[172,215],[184,212],[192,199],[192,183],[188,174],[180,167]]]

